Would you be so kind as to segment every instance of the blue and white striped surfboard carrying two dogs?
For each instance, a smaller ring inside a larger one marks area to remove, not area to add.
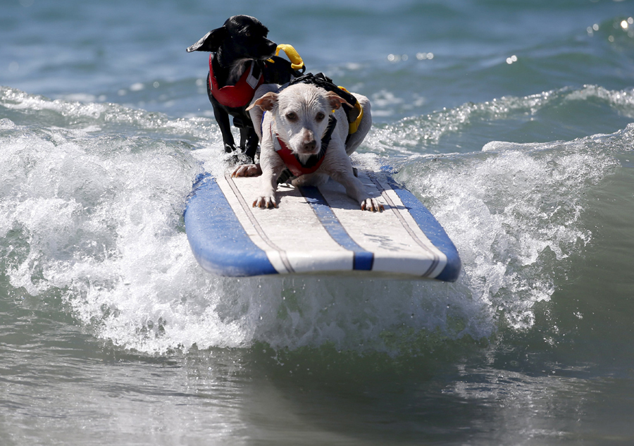
[[[428,209],[387,172],[359,171],[383,212],[362,211],[344,187],[278,185],[278,208],[252,206],[259,177],[202,173],[185,208],[195,258],[210,273],[359,275],[453,282],[461,261]]]

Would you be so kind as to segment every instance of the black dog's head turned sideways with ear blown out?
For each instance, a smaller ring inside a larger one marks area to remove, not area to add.
[[[211,51],[216,53],[223,66],[244,58],[268,59],[275,54],[277,45],[267,39],[266,35],[268,28],[258,19],[233,16],[222,27],[209,31],[205,37],[187,48],[187,52]]]

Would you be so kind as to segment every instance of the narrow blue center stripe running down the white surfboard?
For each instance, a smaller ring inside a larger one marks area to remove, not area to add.
[[[335,240],[335,242],[340,244],[344,249],[354,253],[352,269],[359,271],[372,271],[374,254],[366,251],[352,240],[337,216],[335,216],[335,213],[333,213],[330,206],[328,206],[328,202],[326,202],[321,192],[319,192],[316,187],[312,186],[300,187],[300,190],[302,191],[306,202],[308,202],[313,208],[313,211],[315,212],[321,225],[323,225],[325,230],[328,231],[328,235],[332,237],[332,240]]]

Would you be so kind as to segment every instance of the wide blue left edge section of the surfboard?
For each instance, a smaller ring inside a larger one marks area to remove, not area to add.
[[[244,231],[216,178],[209,173],[199,175],[187,201],[185,232],[198,263],[211,273],[229,276],[278,273],[266,252]]]

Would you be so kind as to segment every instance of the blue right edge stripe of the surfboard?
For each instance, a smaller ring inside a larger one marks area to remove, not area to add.
[[[458,249],[456,249],[452,240],[449,239],[442,225],[438,223],[429,209],[414,197],[414,194],[400,187],[397,182],[390,177],[387,178],[387,181],[430,242],[447,256],[447,265],[435,279],[444,280],[445,282],[455,282],[460,275],[462,262],[458,254]]]

